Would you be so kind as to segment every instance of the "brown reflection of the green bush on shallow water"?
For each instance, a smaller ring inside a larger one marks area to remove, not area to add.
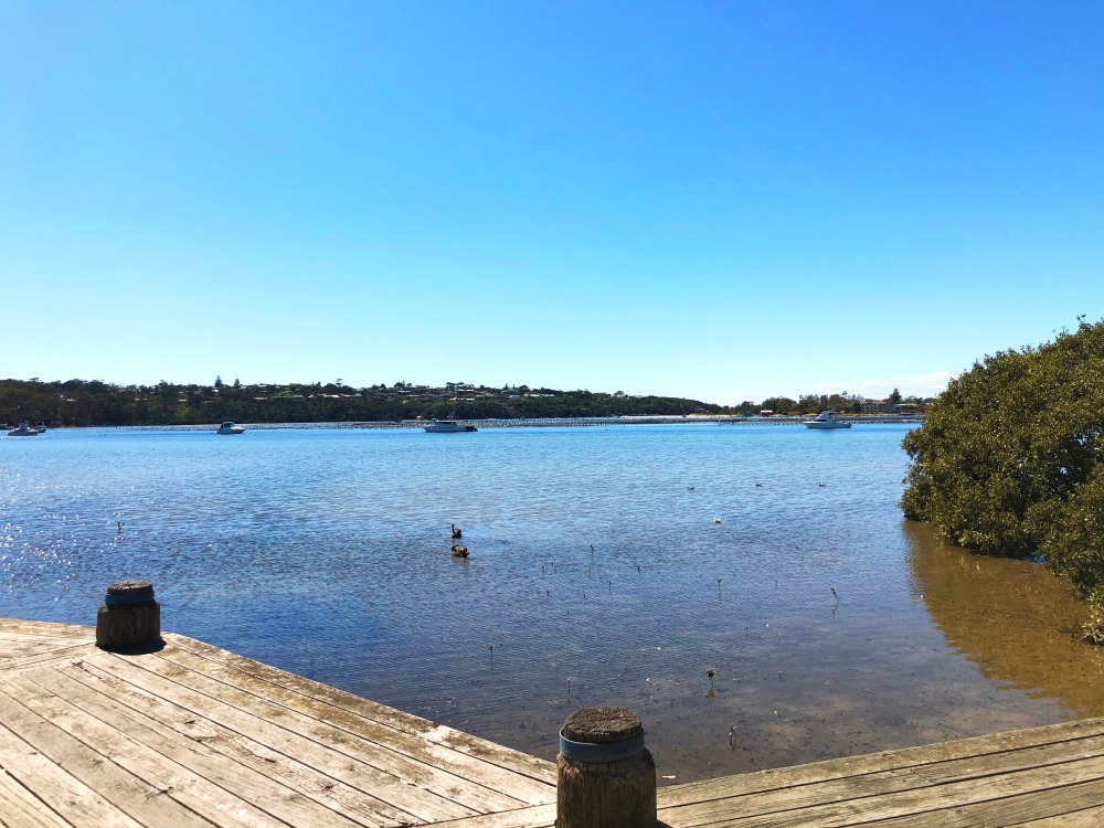
[[[1086,611],[1039,564],[945,546],[907,523],[915,590],[947,643],[988,679],[1052,698],[1068,718],[1104,715],[1104,648],[1075,638]]]

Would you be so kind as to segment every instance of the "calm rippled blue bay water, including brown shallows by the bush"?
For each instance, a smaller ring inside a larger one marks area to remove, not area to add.
[[[1054,578],[902,520],[906,427],[3,438],[0,616],[145,577],[166,629],[545,757],[624,704],[677,782],[1104,715]]]

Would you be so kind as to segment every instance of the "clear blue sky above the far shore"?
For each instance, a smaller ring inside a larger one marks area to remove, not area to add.
[[[933,393],[1104,316],[1104,3],[0,0],[0,376]]]

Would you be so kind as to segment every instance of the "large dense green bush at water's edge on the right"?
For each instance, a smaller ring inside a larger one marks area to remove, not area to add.
[[[910,432],[901,507],[975,552],[1045,562],[1104,644],[1104,321],[985,357]]]

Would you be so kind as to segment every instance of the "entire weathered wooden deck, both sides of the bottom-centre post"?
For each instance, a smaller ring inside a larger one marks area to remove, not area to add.
[[[542,760],[183,636],[139,656],[93,639],[0,619],[0,826],[554,824]],[[659,807],[672,828],[1101,827],[1104,719],[666,787]]]

